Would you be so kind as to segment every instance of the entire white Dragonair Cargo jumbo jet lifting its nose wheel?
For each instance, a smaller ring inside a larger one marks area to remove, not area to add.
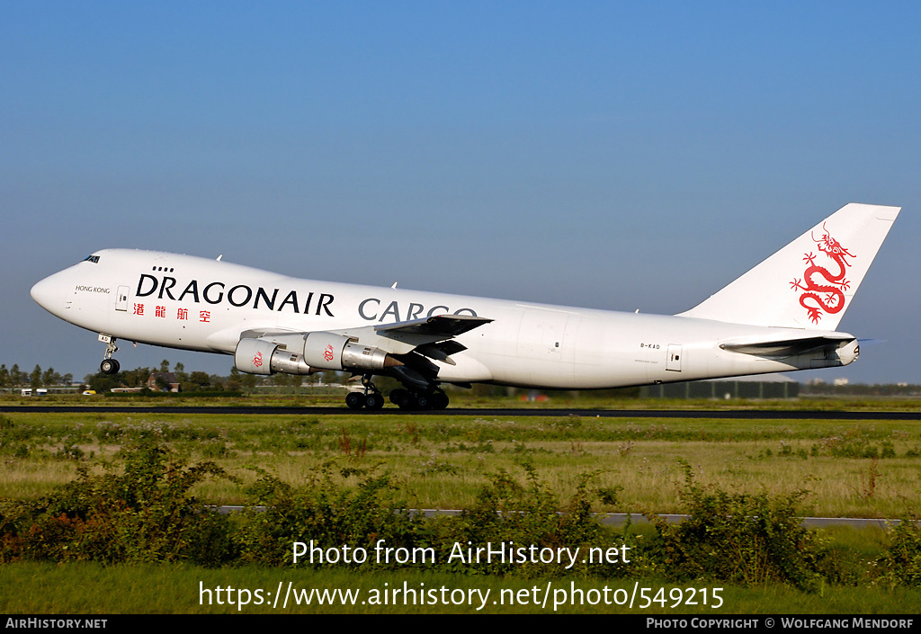
[[[598,311],[281,276],[168,252],[110,249],[46,277],[32,298],[99,334],[234,356],[240,371],[348,370],[379,409],[443,408],[444,383],[598,389],[844,366],[836,332],[900,207],[845,205],[717,294],[678,315]]]

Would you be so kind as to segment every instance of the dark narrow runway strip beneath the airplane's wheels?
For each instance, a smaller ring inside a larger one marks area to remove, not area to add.
[[[469,416],[469,417],[599,417],[599,418],[725,418],[746,420],[921,420],[921,411],[828,411],[811,409],[464,409],[413,411],[385,407],[377,411],[342,407],[270,406],[129,406],[129,405],[0,405],[5,413],[64,414],[211,414],[211,415],[350,415],[375,416]]]

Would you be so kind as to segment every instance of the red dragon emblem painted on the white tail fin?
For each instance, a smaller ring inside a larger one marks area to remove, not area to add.
[[[825,229],[824,223],[822,223],[822,229]],[[828,233],[828,229],[825,229],[825,235],[821,240],[816,240],[814,235],[812,240],[819,247],[819,251],[824,252],[838,265],[838,270],[833,273],[824,266],[815,264],[818,256],[811,252],[806,253],[803,262],[808,263],[809,266],[803,271],[801,281],[797,277],[793,278],[790,288],[806,291],[799,296],[799,304],[809,312],[812,323],[819,323],[819,320],[822,319],[822,311],[835,314],[845,308],[844,291],[851,287],[851,283],[845,279],[846,267],[850,266],[845,256],[850,258],[855,256],[841,246],[839,241],[834,240]],[[815,276],[821,276],[823,279],[816,281]],[[827,284],[822,284],[822,282],[827,282]]]

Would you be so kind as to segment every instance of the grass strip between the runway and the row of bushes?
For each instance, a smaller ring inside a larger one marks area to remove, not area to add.
[[[244,481],[259,465],[298,484],[319,464],[396,474],[423,508],[462,508],[499,468],[527,460],[562,497],[578,475],[621,487],[610,512],[681,512],[678,460],[701,481],[740,492],[810,490],[810,514],[899,517],[921,499],[921,429],[905,421],[721,420],[392,415],[225,416],[8,414],[0,430],[0,497],[34,498],[76,465],[119,459],[122,443],[151,434],[195,460],[214,460]],[[241,501],[239,487],[206,483],[196,494]]]

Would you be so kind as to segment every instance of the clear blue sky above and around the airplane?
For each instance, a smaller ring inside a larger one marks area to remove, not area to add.
[[[908,2],[5,3],[0,362],[96,370],[29,288],[100,248],[673,313],[864,202],[904,209],[841,329],[887,343],[815,376],[921,383],[919,24]]]

